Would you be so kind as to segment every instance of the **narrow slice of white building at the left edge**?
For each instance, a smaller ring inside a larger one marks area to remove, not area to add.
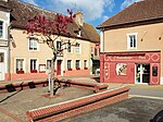
[[[0,81],[9,73],[9,27],[10,10],[8,0],[0,1]]]

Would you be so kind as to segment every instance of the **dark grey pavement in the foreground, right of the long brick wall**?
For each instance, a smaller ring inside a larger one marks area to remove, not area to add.
[[[61,122],[150,122],[160,111],[163,100],[135,97]]]

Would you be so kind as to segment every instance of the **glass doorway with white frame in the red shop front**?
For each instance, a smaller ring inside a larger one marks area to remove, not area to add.
[[[150,64],[136,64],[136,83],[150,83]]]

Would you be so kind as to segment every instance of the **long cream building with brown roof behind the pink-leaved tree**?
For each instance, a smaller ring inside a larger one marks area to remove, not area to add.
[[[50,72],[52,51],[48,45],[39,38],[23,34],[28,20],[39,14],[48,17],[55,13],[17,0],[10,0],[9,7],[12,20],[11,41],[11,71],[5,80],[34,80],[47,78]],[[78,33],[74,33],[79,30]],[[71,37],[61,36],[55,41],[57,48],[61,48],[61,41],[70,41],[76,47],[66,48],[63,53],[58,54],[55,74],[58,76],[88,76],[92,73],[91,47],[99,44],[100,36],[92,25],[83,21],[83,13],[77,12],[73,25],[68,27]],[[57,36],[57,35],[54,35]]]

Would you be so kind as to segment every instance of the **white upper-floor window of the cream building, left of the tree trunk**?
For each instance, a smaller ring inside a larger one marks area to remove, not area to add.
[[[38,50],[38,39],[29,38],[29,50]]]

